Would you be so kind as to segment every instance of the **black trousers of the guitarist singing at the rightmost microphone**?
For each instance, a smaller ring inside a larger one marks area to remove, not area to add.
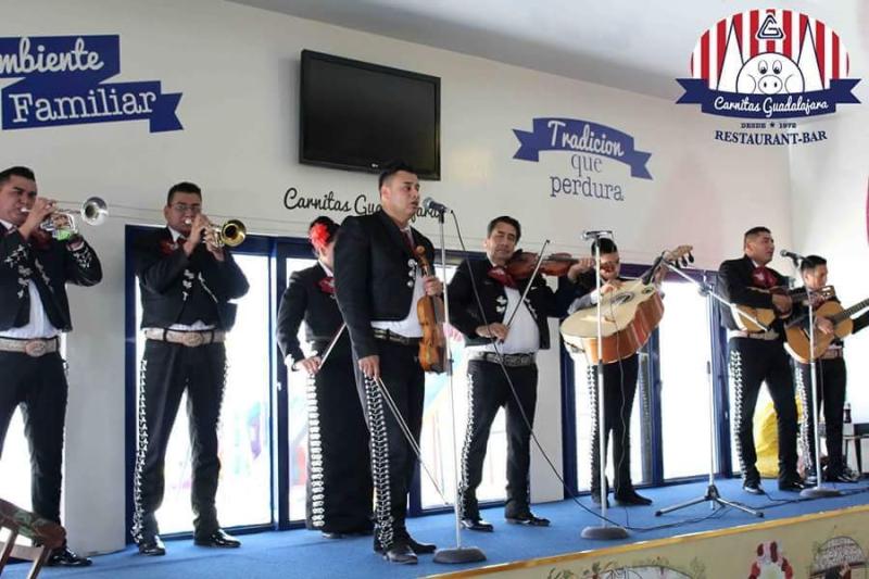
[[[796,473],[796,402],[791,363],[778,340],[731,338],[730,387],[734,395],[736,453],[742,478],[760,480],[754,445],[754,410],[760,385],[766,381],[776,406],[779,431],[779,481],[798,480]]]

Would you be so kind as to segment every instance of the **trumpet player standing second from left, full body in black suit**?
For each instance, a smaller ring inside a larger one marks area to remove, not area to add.
[[[226,333],[236,320],[230,300],[248,292],[248,280],[215,238],[192,182],[174,185],[163,209],[166,227],[134,243],[147,338],[139,379],[139,431],[134,475],[133,537],[142,555],[164,555],[156,509],[163,501],[163,465],[181,395],[192,445],[193,542],[237,547],[217,521],[215,496],[221,461],[217,425],[226,386]]]

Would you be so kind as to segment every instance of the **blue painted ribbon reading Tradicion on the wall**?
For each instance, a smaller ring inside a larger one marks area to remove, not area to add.
[[[627,133],[579,118],[534,118],[533,130],[513,129],[519,139],[519,150],[514,159],[534,161],[541,151],[570,151],[592,153],[625,163],[631,167],[631,177],[651,179],[645,167],[652,153],[634,148],[633,137]]]

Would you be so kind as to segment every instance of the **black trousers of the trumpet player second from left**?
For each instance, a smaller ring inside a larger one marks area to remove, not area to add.
[[[139,379],[133,537],[142,541],[159,532],[154,513],[163,502],[166,446],[185,391],[192,451],[193,526],[198,537],[209,536],[219,528],[214,498],[221,473],[217,423],[226,382],[226,349],[223,343],[188,348],[147,340]]]

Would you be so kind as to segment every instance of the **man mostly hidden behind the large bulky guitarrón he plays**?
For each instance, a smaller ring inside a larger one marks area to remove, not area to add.
[[[595,242],[597,243],[597,242]],[[597,248],[591,246],[591,253],[595,255]],[[618,247],[612,239],[603,238],[601,244],[601,294],[617,291],[626,281],[620,277],[621,260]],[[594,260],[592,260],[594,263]],[[655,282],[659,284],[665,269],[658,269]],[[568,278],[575,284],[575,301],[569,312],[592,307],[597,303],[597,274],[593,267],[581,275]],[[631,451],[630,425],[633,412],[633,399],[637,395],[637,378],[640,370],[639,354],[603,365],[604,388],[604,449],[609,444],[609,435],[613,436],[613,495],[617,503],[624,506],[648,505],[652,501],[640,493],[631,481]],[[589,400],[591,407],[591,498],[597,504],[606,500],[609,490],[601,490],[601,453],[600,428],[597,407],[597,370],[596,366],[589,364],[587,372],[589,385]]]

